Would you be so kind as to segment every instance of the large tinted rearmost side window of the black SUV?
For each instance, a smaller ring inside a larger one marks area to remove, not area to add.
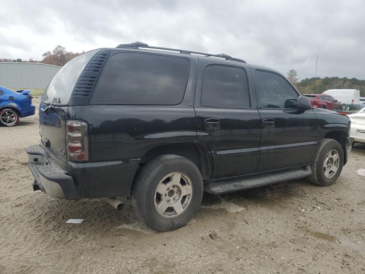
[[[189,73],[185,58],[117,53],[107,62],[92,101],[106,104],[179,104]]]

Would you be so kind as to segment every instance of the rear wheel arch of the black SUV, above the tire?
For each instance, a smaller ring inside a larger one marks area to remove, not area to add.
[[[204,181],[211,178],[213,173],[213,161],[210,151],[204,143],[176,143],[158,145],[147,151],[139,161],[139,167],[148,163],[155,157],[174,154],[191,160],[199,169]],[[137,170],[138,172],[138,170]]]

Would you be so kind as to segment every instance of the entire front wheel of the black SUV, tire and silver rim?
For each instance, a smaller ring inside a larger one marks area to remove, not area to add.
[[[334,151],[337,152],[338,161],[337,159],[334,160],[336,158],[336,153]],[[327,158],[327,166],[325,167],[324,160],[326,159],[326,156],[329,157]],[[331,168],[335,169],[336,166],[337,170],[331,171]],[[318,154],[314,160],[314,163],[312,164],[312,174],[309,176],[309,179],[312,183],[318,184],[319,186],[330,186],[337,180],[338,176],[341,174],[342,167],[342,146],[336,140],[325,138],[322,140]]]

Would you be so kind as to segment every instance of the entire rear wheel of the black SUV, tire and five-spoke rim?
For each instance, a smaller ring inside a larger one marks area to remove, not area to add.
[[[185,194],[189,191],[191,194]],[[192,161],[171,154],[148,162],[132,187],[132,205],[139,220],[160,232],[187,224],[199,209],[202,198],[203,179],[199,169]],[[163,211],[166,205],[168,208]]]

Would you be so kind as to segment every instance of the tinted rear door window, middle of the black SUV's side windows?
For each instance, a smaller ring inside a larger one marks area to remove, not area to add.
[[[201,105],[234,109],[250,107],[245,70],[218,65],[205,68]]]

